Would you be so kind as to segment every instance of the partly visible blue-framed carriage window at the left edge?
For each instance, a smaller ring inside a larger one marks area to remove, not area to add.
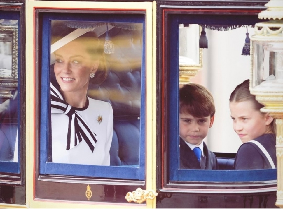
[[[1,11],[0,19],[0,172],[20,174],[20,12]]]

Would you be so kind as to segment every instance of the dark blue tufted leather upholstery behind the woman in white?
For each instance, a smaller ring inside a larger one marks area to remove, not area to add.
[[[106,54],[109,74],[100,84],[89,85],[88,96],[110,102],[114,131],[110,165],[139,164],[142,40],[137,30],[109,31],[115,52]],[[101,37],[104,41],[104,37]]]

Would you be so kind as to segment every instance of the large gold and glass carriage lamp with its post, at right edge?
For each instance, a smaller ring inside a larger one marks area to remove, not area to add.
[[[270,0],[251,36],[250,92],[276,119],[277,200],[283,208],[283,1]]]

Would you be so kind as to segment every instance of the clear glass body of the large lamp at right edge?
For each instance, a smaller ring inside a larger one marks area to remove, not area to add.
[[[253,83],[271,91],[283,91],[283,42],[253,43]]]

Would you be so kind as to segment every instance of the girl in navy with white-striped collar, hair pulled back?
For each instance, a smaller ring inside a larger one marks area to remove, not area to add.
[[[239,84],[230,96],[233,129],[243,144],[237,151],[236,170],[270,169],[276,167],[275,119],[262,113],[264,107],[249,91],[249,80]]]

